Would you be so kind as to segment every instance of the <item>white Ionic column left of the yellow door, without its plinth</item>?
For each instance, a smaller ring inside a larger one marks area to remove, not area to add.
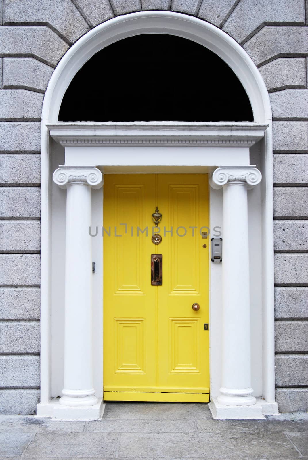
[[[53,181],[66,195],[64,406],[98,403],[93,388],[91,188],[103,184],[95,167],[60,166]]]

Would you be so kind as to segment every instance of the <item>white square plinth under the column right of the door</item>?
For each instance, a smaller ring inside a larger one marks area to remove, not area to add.
[[[267,403],[263,398],[256,398],[256,403],[250,406],[229,406],[211,397],[210,411],[217,420],[260,420],[264,415],[278,414],[277,403]]]

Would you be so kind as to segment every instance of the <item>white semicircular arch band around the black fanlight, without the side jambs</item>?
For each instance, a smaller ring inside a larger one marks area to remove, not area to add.
[[[46,90],[42,120],[58,121],[61,101],[70,81],[93,54],[123,38],[140,34],[171,34],[193,40],[223,59],[238,76],[252,106],[254,121],[271,120],[264,81],[247,52],[221,29],[197,17],[172,11],[145,11],[118,16],[83,35],[64,54]],[[202,81],[200,81],[202,86]]]

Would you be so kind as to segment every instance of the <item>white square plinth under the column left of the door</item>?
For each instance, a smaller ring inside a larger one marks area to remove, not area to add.
[[[49,403],[36,406],[38,417],[52,417],[52,420],[99,420],[105,410],[102,398],[93,406],[71,407],[59,404],[59,399],[51,399]]]

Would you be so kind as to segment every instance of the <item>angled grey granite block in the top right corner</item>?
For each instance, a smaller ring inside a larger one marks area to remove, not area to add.
[[[304,3],[302,0],[241,0],[223,30],[243,43],[266,23],[305,25]]]

